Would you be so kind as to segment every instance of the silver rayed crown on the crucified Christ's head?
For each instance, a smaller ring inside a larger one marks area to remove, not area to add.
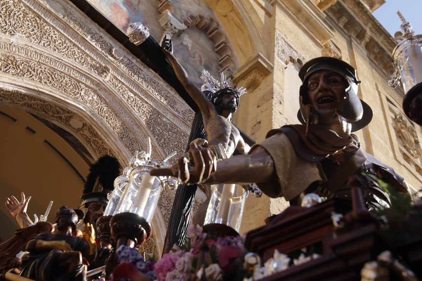
[[[236,96],[237,99],[243,94],[246,94],[246,88],[240,87],[240,88],[233,88],[229,86],[229,83],[227,82],[226,75],[223,74],[223,72],[220,72],[221,75],[221,81],[217,81],[212,75],[206,71],[202,70],[201,72],[201,79],[205,82],[203,91],[211,91],[213,94],[211,95],[211,101],[215,101],[215,99],[222,95],[227,94],[227,91],[230,91],[233,95]]]

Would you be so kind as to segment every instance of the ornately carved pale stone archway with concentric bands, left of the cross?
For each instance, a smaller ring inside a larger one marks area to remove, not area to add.
[[[192,110],[71,3],[0,0],[0,35],[3,103],[44,115],[60,115],[59,108],[73,112],[92,128],[76,135],[96,156],[111,151],[127,163],[135,150],[146,148],[148,137],[157,160],[184,152]],[[61,123],[68,127],[65,117]],[[155,239],[149,241],[155,245],[147,247],[158,249],[157,256],[172,202],[163,190],[152,223]]]

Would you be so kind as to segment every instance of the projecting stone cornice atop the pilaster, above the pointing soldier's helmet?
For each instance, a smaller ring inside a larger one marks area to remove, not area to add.
[[[334,28],[312,1],[270,0],[270,4],[278,5],[283,9],[321,49],[333,38]]]

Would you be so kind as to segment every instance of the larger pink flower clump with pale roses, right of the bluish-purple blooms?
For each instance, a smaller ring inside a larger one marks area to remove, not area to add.
[[[246,249],[241,237],[210,237],[191,225],[185,243],[173,246],[155,265],[157,281],[243,280]]]

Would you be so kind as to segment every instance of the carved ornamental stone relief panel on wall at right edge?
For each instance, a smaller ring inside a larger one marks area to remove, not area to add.
[[[415,128],[401,114],[395,115],[394,129],[397,133],[399,144],[415,159],[421,156],[421,146]]]

